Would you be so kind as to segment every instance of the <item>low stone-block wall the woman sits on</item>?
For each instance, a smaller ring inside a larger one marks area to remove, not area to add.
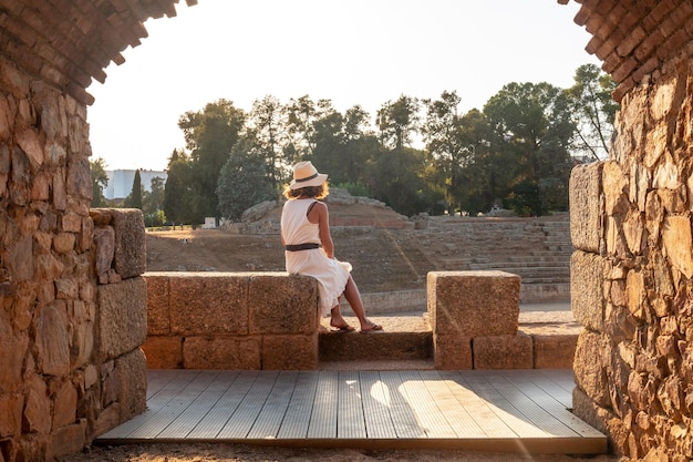
[[[286,273],[145,273],[152,369],[318,367],[318,285]]]

